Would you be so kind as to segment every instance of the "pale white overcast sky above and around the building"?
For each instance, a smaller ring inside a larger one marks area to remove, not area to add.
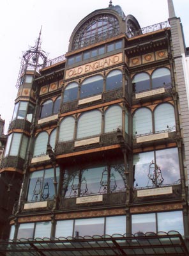
[[[173,0],[189,47],[189,0]],[[167,0],[112,0],[125,15],[132,14],[144,28],[168,20]],[[17,97],[22,54],[34,46],[42,26],[42,50],[53,59],[68,51],[73,29],[94,10],[107,8],[109,0],[1,0],[0,1],[0,115],[8,132]]]

